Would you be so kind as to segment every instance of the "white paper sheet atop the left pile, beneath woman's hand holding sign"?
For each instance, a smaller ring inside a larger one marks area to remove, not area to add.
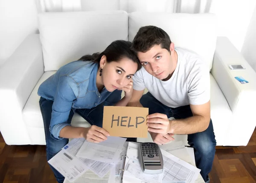
[[[98,144],[84,141],[76,156],[115,165],[125,141],[122,137],[108,137]]]

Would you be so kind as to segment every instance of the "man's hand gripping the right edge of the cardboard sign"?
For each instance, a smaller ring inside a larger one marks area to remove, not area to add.
[[[154,113],[147,116],[148,131],[158,134],[170,132],[170,122],[165,114]]]

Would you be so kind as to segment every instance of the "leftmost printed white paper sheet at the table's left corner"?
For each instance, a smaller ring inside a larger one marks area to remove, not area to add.
[[[84,165],[78,158],[61,150],[48,163],[58,170],[70,182],[78,179],[89,168]]]

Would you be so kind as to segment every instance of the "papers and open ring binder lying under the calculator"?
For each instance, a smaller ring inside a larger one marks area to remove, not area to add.
[[[180,153],[178,156],[182,156],[190,162],[192,158],[189,156],[182,142],[160,146],[164,162],[164,171],[162,174],[143,173],[138,161],[138,148],[138,144],[129,142],[126,154],[128,160],[126,159],[125,161],[123,183],[203,183],[201,182],[203,179],[199,174],[200,169],[169,153]]]

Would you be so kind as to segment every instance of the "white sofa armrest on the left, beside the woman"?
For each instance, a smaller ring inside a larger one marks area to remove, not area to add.
[[[0,67],[0,131],[6,144],[31,143],[22,110],[43,73],[39,34],[26,37]]]

